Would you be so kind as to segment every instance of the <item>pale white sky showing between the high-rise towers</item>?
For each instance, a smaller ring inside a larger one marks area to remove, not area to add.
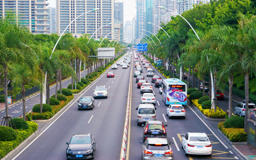
[[[56,7],[56,1],[58,0],[48,0],[49,7]],[[136,15],[135,0],[123,0],[123,6],[124,6],[123,18],[124,18],[124,24],[125,24],[126,20],[133,20],[133,17]]]

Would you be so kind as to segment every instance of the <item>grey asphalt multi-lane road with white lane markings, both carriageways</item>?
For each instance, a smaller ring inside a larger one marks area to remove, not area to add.
[[[70,141],[73,134],[82,132],[90,132],[95,137],[97,143],[94,159],[119,159],[129,78],[131,70],[134,69],[132,65],[127,69],[118,66],[118,69],[114,70],[114,78],[106,78],[106,73],[102,74],[81,96],[93,96],[93,89],[96,85],[105,85],[108,88],[107,99],[95,99],[93,110],[78,110],[77,100],[75,100],[59,117],[38,132],[39,135],[36,139],[24,145],[22,150],[15,152],[9,159],[66,159],[67,145],[65,143]],[[156,73],[158,72],[156,71]],[[143,68],[142,75],[145,76],[145,68]],[[150,81],[151,79],[146,78]],[[168,119],[166,106],[158,91],[159,88],[153,88],[157,100],[157,120],[168,125],[166,127],[167,138],[174,142],[172,145],[174,159],[244,159],[217,132],[218,122],[205,120],[193,107],[188,105],[185,107],[186,119]],[[140,104],[140,96],[140,90],[133,78],[131,125],[129,128],[131,134],[127,141],[130,143],[128,145],[130,147],[126,149],[126,159],[141,159],[140,141],[143,137],[143,127],[137,125],[137,110],[135,109]],[[76,98],[79,99],[79,97]],[[185,156],[184,150],[181,148],[181,135],[186,132],[207,133],[212,142],[212,156]]]

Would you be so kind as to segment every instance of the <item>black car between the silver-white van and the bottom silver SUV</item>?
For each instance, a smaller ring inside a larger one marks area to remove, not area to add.
[[[167,134],[164,127],[167,125],[164,125],[162,121],[147,121],[144,126],[143,141],[154,137],[166,138]]]

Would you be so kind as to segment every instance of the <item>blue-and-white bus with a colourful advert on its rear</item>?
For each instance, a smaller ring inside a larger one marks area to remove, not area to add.
[[[162,98],[165,105],[187,104],[187,84],[177,78],[163,80]]]

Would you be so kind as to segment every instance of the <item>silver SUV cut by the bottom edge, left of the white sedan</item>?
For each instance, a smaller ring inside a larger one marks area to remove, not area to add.
[[[142,159],[148,160],[169,160],[174,158],[172,150],[172,142],[166,138],[147,138],[146,141],[140,142],[142,144]]]

